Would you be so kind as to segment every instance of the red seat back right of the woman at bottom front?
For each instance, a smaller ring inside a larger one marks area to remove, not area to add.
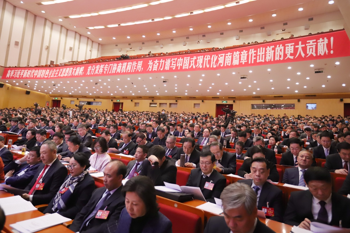
[[[172,222],[173,233],[201,233],[201,217],[197,214],[162,203],[158,206],[159,211]]]

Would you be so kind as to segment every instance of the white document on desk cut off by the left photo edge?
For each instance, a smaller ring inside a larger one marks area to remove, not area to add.
[[[21,196],[0,198],[0,206],[5,215],[36,210],[31,202],[26,201]]]

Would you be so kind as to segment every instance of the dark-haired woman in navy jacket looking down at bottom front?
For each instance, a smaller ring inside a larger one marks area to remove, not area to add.
[[[172,233],[172,223],[159,212],[153,182],[147,176],[134,176],[121,190],[125,208],[110,233]]]

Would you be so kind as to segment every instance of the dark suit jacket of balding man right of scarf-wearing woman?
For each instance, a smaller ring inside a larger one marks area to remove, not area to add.
[[[119,220],[121,210],[123,210],[125,207],[125,198],[121,194],[122,188],[123,185],[121,185],[107,200],[105,200],[101,207],[102,210],[104,210],[106,207],[106,211],[109,211],[107,219],[91,218],[89,225],[84,226],[80,233],[104,232],[108,224],[114,224],[117,220]],[[95,209],[105,191],[105,187],[98,188],[93,191],[89,202],[77,214],[72,225],[70,225],[70,230],[73,232],[79,231],[85,218],[87,218]]]

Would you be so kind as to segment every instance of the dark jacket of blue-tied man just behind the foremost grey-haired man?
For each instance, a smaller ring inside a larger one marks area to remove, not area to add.
[[[238,180],[238,183],[248,184],[249,187],[252,186],[253,180]],[[282,222],[283,220],[283,201],[282,201],[282,190],[277,188],[275,185],[265,182],[262,185],[262,189],[260,191],[259,201],[258,201],[258,210],[262,210],[262,207],[266,207],[268,202],[268,206],[273,208],[275,211],[275,216],[266,218]]]

